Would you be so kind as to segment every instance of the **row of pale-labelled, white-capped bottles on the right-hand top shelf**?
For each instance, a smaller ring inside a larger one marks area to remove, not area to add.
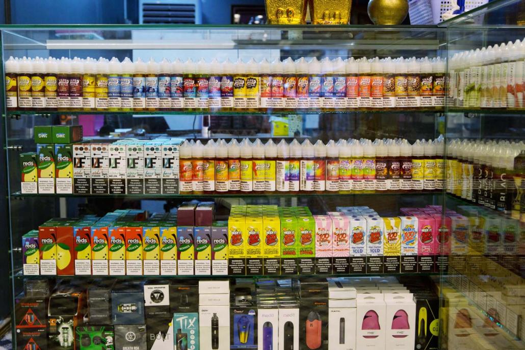
[[[450,59],[448,103],[454,107],[525,108],[525,39],[463,51]]]

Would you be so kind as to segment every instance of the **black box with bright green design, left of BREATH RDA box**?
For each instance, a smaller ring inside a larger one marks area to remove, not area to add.
[[[113,326],[77,326],[75,342],[78,350],[113,350]]]

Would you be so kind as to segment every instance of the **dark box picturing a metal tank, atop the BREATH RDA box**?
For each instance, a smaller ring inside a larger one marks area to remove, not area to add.
[[[144,323],[143,291],[113,291],[111,293],[113,324]]]

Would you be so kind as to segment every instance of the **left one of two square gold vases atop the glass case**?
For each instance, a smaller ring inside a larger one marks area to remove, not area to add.
[[[265,0],[268,24],[305,24],[308,0]]]

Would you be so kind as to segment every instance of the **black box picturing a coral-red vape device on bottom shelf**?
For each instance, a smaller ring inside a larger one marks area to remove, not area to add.
[[[299,349],[328,349],[328,299],[303,298],[299,308]]]

